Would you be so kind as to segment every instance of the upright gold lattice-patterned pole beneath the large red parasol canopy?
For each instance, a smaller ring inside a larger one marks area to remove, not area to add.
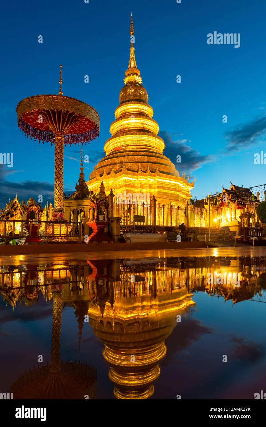
[[[55,135],[55,204],[54,212],[63,212],[64,199],[64,134]]]

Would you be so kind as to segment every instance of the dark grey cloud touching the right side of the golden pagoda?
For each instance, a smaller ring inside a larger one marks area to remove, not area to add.
[[[191,142],[187,139],[175,139],[172,138],[182,134],[160,132],[160,137],[163,138],[165,143],[164,155],[166,155],[177,169],[184,170],[186,173],[191,173],[196,169],[202,167],[203,164],[213,161],[214,158],[211,155],[201,155],[198,151],[187,145],[187,142]],[[181,156],[181,163],[176,163],[176,156]]]

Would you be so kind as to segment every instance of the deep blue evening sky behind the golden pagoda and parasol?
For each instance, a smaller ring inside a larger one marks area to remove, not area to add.
[[[230,181],[265,183],[266,166],[254,164],[254,153],[266,152],[263,0],[16,1],[2,5],[0,26],[0,152],[14,153],[13,168],[0,165],[0,206],[16,190],[20,199],[42,194],[53,203],[54,147],[25,138],[15,108],[25,97],[58,93],[59,64],[63,94],[100,115],[100,137],[84,148],[91,161],[86,179],[103,157],[128,67],[130,12],[137,66],[165,154],[175,164],[181,155],[176,167],[196,178],[193,196],[200,199]],[[240,33],[240,47],[208,45],[207,34],[214,31]],[[78,179],[80,149],[67,146],[64,153],[68,194]]]

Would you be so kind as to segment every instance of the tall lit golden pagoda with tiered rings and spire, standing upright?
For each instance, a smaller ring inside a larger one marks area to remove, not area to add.
[[[110,126],[112,136],[105,143],[105,157],[90,174],[88,188],[95,193],[103,181],[106,192],[113,190],[116,197],[141,193],[148,199],[154,195],[158,202],[185,205],[194,184],[180,177],[163,154],[164,140],[158,136],[159,126],[152,119],[153,109],[135,60],[132,14],[130,37],[129,67]]]

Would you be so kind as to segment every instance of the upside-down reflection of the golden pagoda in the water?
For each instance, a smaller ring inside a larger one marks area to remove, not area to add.
[[[150,269],[131,282],[132,275],[122,272],[121,281],[114,282],[113,306],[107,301],[104,313],[97,304],[89,306],[90,325],[105,344],[103,357],[118,399],[152,396],[167,352],[165,339],[177,325],[177,314],[194,305],[185,286],[162,283],[158,273]]]

